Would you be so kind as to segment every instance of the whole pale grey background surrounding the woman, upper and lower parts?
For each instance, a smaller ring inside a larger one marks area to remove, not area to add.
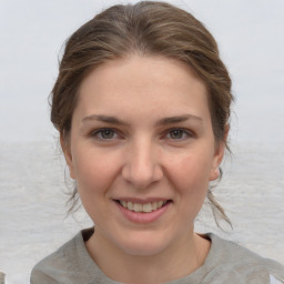
[[[135,2],[135,1],[130,1]],[[234,231],[216,231],[284,262],[284,1],[169,1],[203,21],[220,44],[236,101],[232,162],[216,194]],[[29,283],[36,262],[90,224],[64,220],[64,162],[48,95],[63,41],[118,1],[0,0],[0,271]]]

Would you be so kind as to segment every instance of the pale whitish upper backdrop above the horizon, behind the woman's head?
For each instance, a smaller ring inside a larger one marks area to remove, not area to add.
[[[203,21],[220,44],[236,97],[232,140],[284,141],[284,1],[169,2]],[[118,1],[0,0],[0,141],[53,136],[48,95],[63,42],[111,3]]]

